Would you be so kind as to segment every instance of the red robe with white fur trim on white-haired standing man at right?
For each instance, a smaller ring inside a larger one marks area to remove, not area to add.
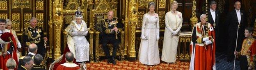
[[[208,33],[207,33],[208,32]],[[209,37],[212,41],[211,44],[206,45],[202,38]],[[215,31],[207,23],[203,26],[201,23],[194,25],[192,31],[192,41],[191,47],[191,60],[190,60],[190,70],[216,70],[215,67]]]

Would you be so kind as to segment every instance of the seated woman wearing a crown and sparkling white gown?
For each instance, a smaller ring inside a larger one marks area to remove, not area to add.
[[[67,44],[74,54],[76,62],[89,61],[89,43],[85,36],[88,33],[87,24],[82,20],[82,12],[75,12],[75,20],[71,21],[65,31],[69,32]]]

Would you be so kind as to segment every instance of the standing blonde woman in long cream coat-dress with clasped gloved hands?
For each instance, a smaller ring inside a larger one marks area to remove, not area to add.
[[[171,11],[165,14],[165,35],[164,44],[162,48],[161,60],[167,63],[175,63],[179,31],[182,26],[182,14],[176,11],[178,2],[171,2]]]

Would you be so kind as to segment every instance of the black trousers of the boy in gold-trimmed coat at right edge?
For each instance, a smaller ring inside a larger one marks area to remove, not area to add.
[[[239,56],[241,70],[248,70],[248,61],[246,56]]]

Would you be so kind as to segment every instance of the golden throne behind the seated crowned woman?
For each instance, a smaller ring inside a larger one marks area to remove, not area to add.
[[[84,2],[83,2],[84,3]],[[63,28],[62,28],[62,53],[64,53],[64,49],[67,47],[67,35],[68,32],[66,32],[64,29],[71,23],[72,20],[75,19],[75,11],[78,10],[78,7],[80,7],[80,11],[83,13],[83,20],[87,23],[87,27],[89,26],[89,23],[87,22],[87,5],[85,4],[78,4],[77,0],[65,0],[64,2],[64,10],[63,10]],[[94,32],[89,30],[87,34],[87,41],[89,42],[89,61],[91,63],[94,62],[94,54],[93,54],[93,38],[94,38]],[[49,70],[53,70],[54,65],[56,63],[59,63],[64,59],[64,54],[62,54],[59,58],[57,58],[53,63],[50,64]]]

